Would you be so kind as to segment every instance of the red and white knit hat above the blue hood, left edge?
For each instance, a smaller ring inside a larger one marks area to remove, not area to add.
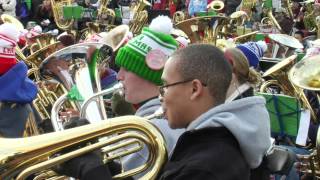
[[[10,23],[0,25],[0,75],[6,73],[16,63],[15,47],[20,32]]]

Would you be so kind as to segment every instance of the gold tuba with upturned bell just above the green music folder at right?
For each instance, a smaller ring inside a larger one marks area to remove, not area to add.
[[[303,89],[293,84],[288,77],[288,72],[293,67],[296,58],[297,55],[294,54],[268,69],[262,77],[265,78],[269,76],[273,79],[264,82],[260,87],[260,92],[267,92],[267,89],[272,85],[278,86],[284,94],[296,97],[302,103],[302,107],[310,110],[311,118],[316,122],[316,114],[304,94]]]

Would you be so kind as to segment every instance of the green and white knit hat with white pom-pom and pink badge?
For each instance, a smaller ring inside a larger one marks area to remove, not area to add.
[[[165,60],[178,48],[178,43],[170,35],[171,29],[170,18],[158,16],[149,28],[143,28],[140,35],[119,49],[116,65],[161,85]]]

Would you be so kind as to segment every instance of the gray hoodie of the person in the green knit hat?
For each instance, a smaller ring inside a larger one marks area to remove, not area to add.
[[[140,117],[146,117],[153,114],[156,110],[161,107],[160,101],[158,98],[152,99],[141,106],[135,115]],[[171,155],[176,142],[180,135],[185,131],[185,129],[171,129],[169,127],[168,121],[166,119],[152,119],[151,122],[157,126],[157,128],[162,133],[163,137],[166,141],[168,154]],[[143,163],[145,163],[148,159],[149,151],[147,148],[143,148],[141,151],[130,154],[124,158],[122,158],[123,167],[125,170],[136,168]],[[141,177],[143,174],[139,174],[135,176],[135,179]]]

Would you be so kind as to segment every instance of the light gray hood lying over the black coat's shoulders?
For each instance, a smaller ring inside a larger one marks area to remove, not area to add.
[[[271,146],[270,120],[263,97],[247,97],[216,106],[190,123],[189,130],[226,127],[237,139],[242,154],[253,169]]]

